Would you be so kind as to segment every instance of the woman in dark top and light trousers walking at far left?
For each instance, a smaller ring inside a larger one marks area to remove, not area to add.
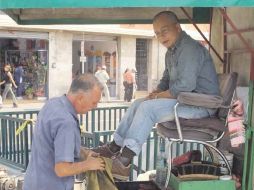
[[[2,85],[2,84],[5,84],[5,88],[4,88],[4,92],[3,92],[3,101],[6,99],[8,92],[10,92],[11,96],[12,96],[13,107],[18,107],[17,99],[16,99],[15,94],[12,90],[12,85],[14,86],[14,88],[17,88],[17,85],[16,85],[15,81],[13,80],[10,65],[4,66],[3,81],[0,83],[0,85]]]

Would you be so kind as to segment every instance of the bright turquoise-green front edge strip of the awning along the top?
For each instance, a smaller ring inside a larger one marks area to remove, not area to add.
[[[0,0],[1,9],[254,6],[254,0]]]

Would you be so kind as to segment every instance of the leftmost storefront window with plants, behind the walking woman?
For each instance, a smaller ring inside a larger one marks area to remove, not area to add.
[[[35,39],[0,39],[1,71],[5,64],[13,69],[14,80],[21,89],[19,98],[47,97],[48,41]],[[19,88],[18,87],[18,88]]]

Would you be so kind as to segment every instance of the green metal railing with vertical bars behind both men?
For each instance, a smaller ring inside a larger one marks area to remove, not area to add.
[[[105,107],[96,108],[87,114],[79,115],[80,125],[83,126],[81,142],[85,147],[97,147],[101,144],[112,141],[113,133],[117,128],[127,107]],[[36,120],[38,111],[26,111],[0,114],[0,161],[9,165],[26,169],[29,152],[31,151],[33,126],[31,123],[20,135],[15,136],[15,130],[26,120]],[[158,152],[158,137],[154,128],[146,143],[143,145],[139,156],[133,160],[130,180],[136,179],[138,174],[147,170],[155,169]],[[173,156],[182,154],[185,151],[203,147],[190,143],[173,146]]]

